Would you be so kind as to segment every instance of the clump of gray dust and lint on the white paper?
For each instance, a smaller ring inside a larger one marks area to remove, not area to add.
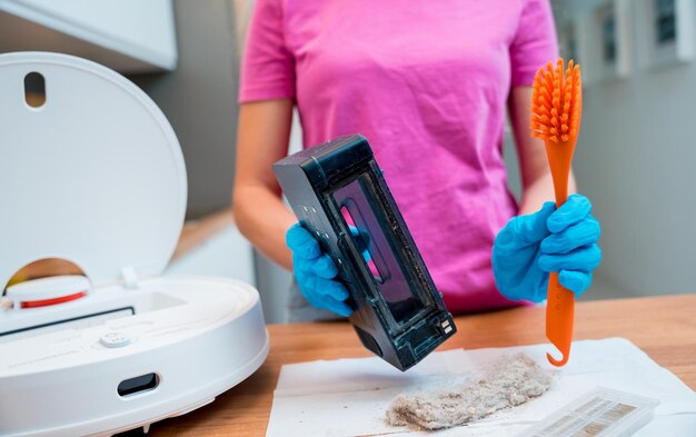
[[[541,396],[551,380],[526,355],[504,357],[484,377],[455,389],[397,396],[387,410],[387,424],[415,429],[468,424]]]

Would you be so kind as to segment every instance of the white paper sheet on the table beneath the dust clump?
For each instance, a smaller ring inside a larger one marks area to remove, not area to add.
[[[379,358],[285,365],[274,394],[267,437],[292,436],[515,436],[596,387],[660,401],[636,436],[696,436],[696,394],[623,338],[575,341],[563,369],[546,360],[548,345],[434,352],[407,373]],[[451,387],[481,375],[497,358],[523,351],[555,373],[544,396],[465,427],[418,433],[385,423],[397,394]]]

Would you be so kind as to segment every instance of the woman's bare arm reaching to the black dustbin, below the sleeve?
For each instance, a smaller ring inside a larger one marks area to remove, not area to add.
[[[292,101],[242,103],[239,108],[237,167],[232,195],[241,234],[268,258],[292,269],[285,234],[297,221],[282,203],[271,165],[288,152]]]

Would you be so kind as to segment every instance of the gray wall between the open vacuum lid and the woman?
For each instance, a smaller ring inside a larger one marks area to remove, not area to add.
[[[238,38],[232,0],[176,0],[179,66],[131,76],[162,109],[183,150],[188,216],[228,207],[237,135]]]

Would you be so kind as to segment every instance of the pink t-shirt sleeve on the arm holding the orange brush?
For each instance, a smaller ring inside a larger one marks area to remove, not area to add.
[[[517,32],[510,46],[513,87],[530,86],[537,70],[556,62],[558,41],[549,0],[523,0]]]

